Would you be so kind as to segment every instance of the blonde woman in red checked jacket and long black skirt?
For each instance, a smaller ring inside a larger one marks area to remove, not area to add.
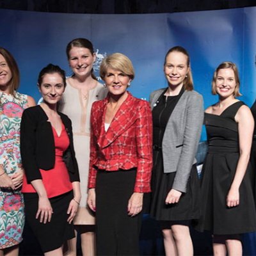
[[[96,211],[97,255],[139,255],[143,193],[150,192],[152,114],[127,92],[134,70],[124,54],[100,65],[109,93],[93,103],[88,205]]]

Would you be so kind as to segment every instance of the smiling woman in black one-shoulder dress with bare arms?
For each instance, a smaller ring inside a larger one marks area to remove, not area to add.
[[[248,161],[253,116],[239,93],[237,67],[221,63],[212,79],[219,101],[205,110],[209,150],[202,170],[201,230],[213,234],[214,255],[242,255],[239,234],[256,230]]]

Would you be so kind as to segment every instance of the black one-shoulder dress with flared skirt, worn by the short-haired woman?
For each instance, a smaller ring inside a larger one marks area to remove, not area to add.
[[[243,104],[235,102],[220,116],[205,113],[209,150],[202,170],[200,231],[227,235],[256,230],[255,203],[248,170],[239,188],[239,205],[228,208],[226,202],[239,159],[238,125],[234,117]]]

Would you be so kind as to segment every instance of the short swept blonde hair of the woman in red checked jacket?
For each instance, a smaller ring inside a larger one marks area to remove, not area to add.
[[[104,80],[108,68],[120,70],[125,75],[129,76],[130,79],[134,79],[134,68],[132,61],[122,53],[113,53],[102,60],[100,64],[100,77]]]

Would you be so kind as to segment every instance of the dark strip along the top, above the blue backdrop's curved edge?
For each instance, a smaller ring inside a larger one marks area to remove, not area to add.
[[[255,0],[0,0],[0,8],[63,13],[164,13],[255,6]]]

